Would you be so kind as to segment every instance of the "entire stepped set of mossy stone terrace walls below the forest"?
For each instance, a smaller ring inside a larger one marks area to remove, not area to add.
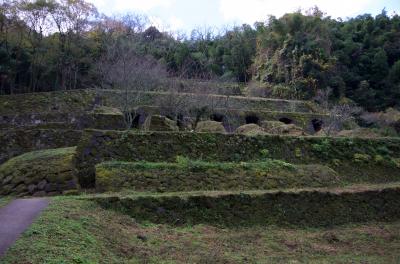
[[[167,224],[326,226],[399,219],[399,138],[245,136],[224,128],[83,131],[120,129],[123,115],[113,108],[118,96],[82,90],[0,97],[0,193],[114,192],[88,199]],[[148,105],[168,96],[146,92],[137,125],[161,109]],[[317,110],[306,101],[232,96],[225,108],[209,109],[199,120],[235,116],[228,123],[238,126],[282,119],[309,131],[313,120],[322,125],[325,115]]]

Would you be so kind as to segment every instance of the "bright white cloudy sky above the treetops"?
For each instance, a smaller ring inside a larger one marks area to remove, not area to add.
[[[267,15],[308,9],[317,5],[327,15],[345,19],[359,14],[400,14],[400,0],[89,0],[107,15],[135,12],[146,14],[163,30],[190,32],[203,26],[264,21]]]

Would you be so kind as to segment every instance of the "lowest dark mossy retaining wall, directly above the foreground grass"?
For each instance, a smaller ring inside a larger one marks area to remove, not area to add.
[[[400,185],[352,186],[336,190],[188,192],[97,196],[104,208],[139,221],[171,225],[332,226],[400,218]]]

